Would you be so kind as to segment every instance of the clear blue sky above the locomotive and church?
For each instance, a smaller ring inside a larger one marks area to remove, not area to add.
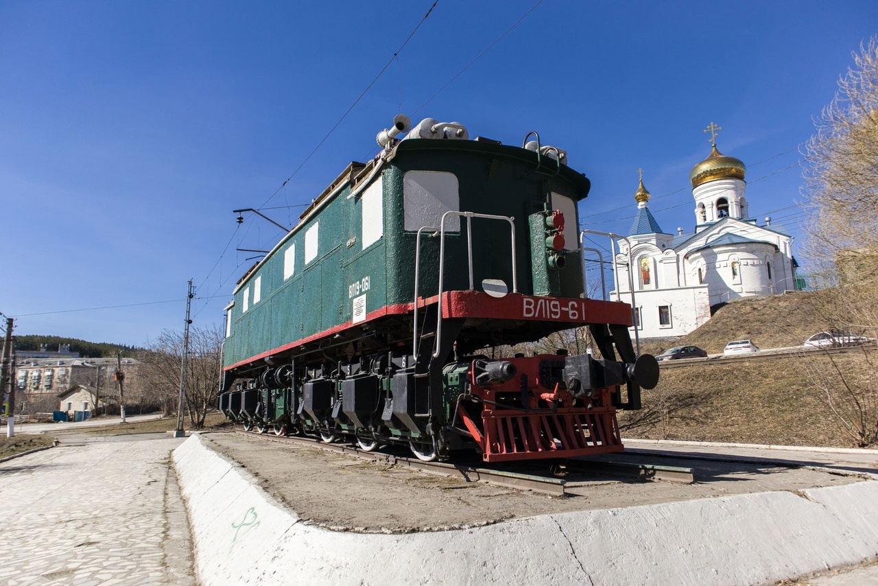
[[[221,323],[254,262],[235,248],[281,235],[232,210],[293,223],[398,112],[507,144],[538,131],[592,181],[585,227],[621,234],[638,168],[659,225],[692,230],[688,174],[714,121],[752,215],[795,235],[807,271],[798,148],[878,3],[439,0],[399,51],[432,4],[0,0],[0,312],[16,334],[148,344],[182,329],[189,279],[195,325]]]

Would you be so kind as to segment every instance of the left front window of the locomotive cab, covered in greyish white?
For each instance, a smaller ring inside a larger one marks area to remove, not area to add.
[[[440,228],[445,212],[460,211],[460,186],[457,175],[440,171],[407,171],[403,179],[405,199],[405,229],[417,232],[430,226]],[[445,221],[446,232],[460,231],[460,217]]]

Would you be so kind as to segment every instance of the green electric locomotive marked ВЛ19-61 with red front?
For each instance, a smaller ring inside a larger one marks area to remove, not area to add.
[[[528,141],[528,139],[533,139]],[[565,151],[405,116],[250,269],[226,307],[219,408],[245,428],[485,461],[623,449],[655,359],[631,308],[588,299]],[[599,356],[504,356],[587,325]]]

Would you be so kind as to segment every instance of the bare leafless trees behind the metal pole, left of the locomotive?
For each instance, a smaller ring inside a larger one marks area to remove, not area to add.
[[[147,352],[140,355],[140,371],[152,391],[150,399],[161,402],[165,413],[176,413],[183,364],[183,332],[165,329]],[[194,427],[204,427],[207,411],[217,402],[220,349],[223,333],[217,327],[189,330],[186,361],[186,407]]]

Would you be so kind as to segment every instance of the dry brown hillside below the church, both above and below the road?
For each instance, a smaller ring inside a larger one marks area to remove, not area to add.
[[[737,339],[762,349],[802,346],[812,334],[833,329],[818,317],[826,299],[824,292],[796,292],[734,300],[688,336],[642,344],[642,350],[692,344],[718,354]],[[859,376],[874,372],[876,359],[878,350],[863,346],[832,356],[802,351],[663,365],[659,386],[644,390],[644,409],[622,412],[619,423],[627,438],[852,447],[813,373]]]

